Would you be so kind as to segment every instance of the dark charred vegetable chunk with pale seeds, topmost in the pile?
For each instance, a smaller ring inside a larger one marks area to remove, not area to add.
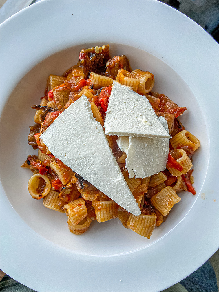
[[[103,45],[102,47],[96,46],[81,50],[78,65],[83,68],[85,78],[88,77],[89,72],[104,75],[106,62],[109,59],[109,45]]]

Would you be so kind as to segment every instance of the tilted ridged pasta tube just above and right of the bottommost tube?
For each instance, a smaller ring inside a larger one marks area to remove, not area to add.
[[[170,186],[164,187],[163,190],[151,198],[151,203],[163,216],[166,216],[173,205],[179,201],[181,201],[180,197]]]

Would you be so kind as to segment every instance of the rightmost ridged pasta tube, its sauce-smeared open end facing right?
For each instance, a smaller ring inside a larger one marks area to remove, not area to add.
[[[178,134],[174,135],[170,139],[170,142],[174,149],[186,146],[195,151],[200,146],[199,140],[189,131],[186,130],[181,131]]]

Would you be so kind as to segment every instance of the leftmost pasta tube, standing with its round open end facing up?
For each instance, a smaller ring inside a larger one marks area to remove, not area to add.
[[[27,189],[33,199],[41,199],[50,191],[51,183],[47,176],[35,173],[29,179]]]

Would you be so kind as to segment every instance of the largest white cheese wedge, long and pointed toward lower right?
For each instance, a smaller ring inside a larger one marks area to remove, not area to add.
[[[85,95],[60,114],[40,138],[53,155],[85,180],[128,212],[141,214]]]

